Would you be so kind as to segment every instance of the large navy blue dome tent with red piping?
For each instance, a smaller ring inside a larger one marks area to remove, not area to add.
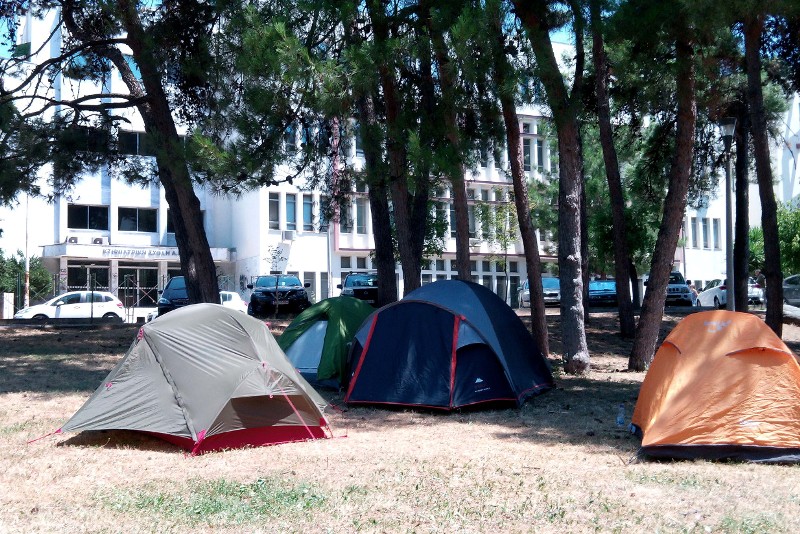
[[[500,297],[460,280],[415,289],[361,326],[348,403],[452,410],[521,405],[553,385],[547,360]]]

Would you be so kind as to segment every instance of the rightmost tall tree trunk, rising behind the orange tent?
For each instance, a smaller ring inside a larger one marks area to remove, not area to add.
[[[764,276],[766,278],[767,326],[781,336],[783,331],[783,273],[778,240],[778,205],[772,184],[767,116],[761,86],[761,34],[763,15],[744,23],[745,62],[747,64],[747,105],[753,128],[753,153],[756,159],[758,192],[761,197],[761,228],[764,231]]]

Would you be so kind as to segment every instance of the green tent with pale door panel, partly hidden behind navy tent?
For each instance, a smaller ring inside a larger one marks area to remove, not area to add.
[[[339,387],[347,376],[349,344],[374,311],[353,297],[325,299],[298,315],[278,338],[278,345],[303,378]]]

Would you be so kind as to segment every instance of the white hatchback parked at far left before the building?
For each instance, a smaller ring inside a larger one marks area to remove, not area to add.
[[[28,306],[14,319],[103,319],[123,320],[122,301],[107,291],[70,291],[44,304]]]

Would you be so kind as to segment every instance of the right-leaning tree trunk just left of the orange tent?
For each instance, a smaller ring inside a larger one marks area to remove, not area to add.
[[[664,200],[663,216],[658,229],[656,247],[653,251],[650,278],[642,303],[641,317],[636,327],[636,335],[633,339],[633,348],[628,359],[628,369],[632,371],[646,370],[655,354],[661,319],[664,315],[669,274],[686,210],[697,122],[694,50],[688,40],[688,33],[687,29],[685,34],[679,36],[675,46],[678,69],[675,153],[670,169],[669,190]]]

